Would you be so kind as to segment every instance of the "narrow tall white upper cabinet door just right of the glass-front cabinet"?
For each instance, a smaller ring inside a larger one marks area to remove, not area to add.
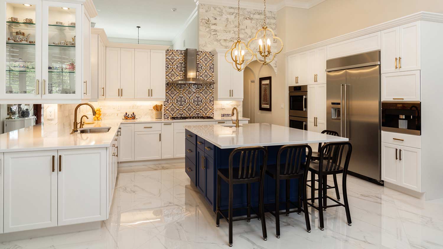
[[[83,36],[83,96],[82,99],[91,98],[91,19],[85,8],[82,8],[82,36]]]

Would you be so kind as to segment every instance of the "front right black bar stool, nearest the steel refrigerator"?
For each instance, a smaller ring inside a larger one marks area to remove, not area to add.
[[[320,150],[320,160],[312,161],[309,167],[311,174],[319,175],[319,196],[311,196],[311,200],[319,200],[319,206],[316,207],[312,203],[308,203],[319,211],[320,230],[324,230],[323,210],[327,207],[343,206],[346,210],[346,219],[348,225],[351,226],[351,214],[349,211],[348,195],[346,191],[346,176],[349,167],[349,161],[352,153],[352,145],[350,142],[330,142],[322,146]],[[344,204],[327,195],[327,176],[343,174],[343,200]],[[327,205],[327,199],[337,204]]]

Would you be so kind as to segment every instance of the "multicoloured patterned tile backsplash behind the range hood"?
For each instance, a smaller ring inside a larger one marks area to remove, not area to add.
[[[171,80],[186,75],[186,50],[166,51],[166,100],[163,117],[211,116],[214,117],[213,84],[169,84]],[[197,77],[214,82],[214,56],[197,51]]]

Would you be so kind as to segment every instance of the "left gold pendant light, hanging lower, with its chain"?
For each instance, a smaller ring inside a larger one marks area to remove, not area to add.
[[[232,67],[236,69],[237,71],[241,71],[246,68],[248,63],[252,61],[254,58],[253,52],[249,50],[249,48],[246,46],[245,42],[242,42],[240,40],[240,0],[238,0],[238,11],[237,11],[237,42],[234,42],[231,46],[231,49],[226,51],[225,53],[225,59],[229,63],[231,63]],[[245,52],[249,51],[251,54],[250,59],[245,61]],[[230,57],[228,59],[228,57]]]

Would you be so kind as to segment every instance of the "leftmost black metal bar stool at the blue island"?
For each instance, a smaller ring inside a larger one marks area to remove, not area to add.
[[[234,167],[234,156],[240,153],[240,162],[238,167]],[[257,159],[260,159],[260,153],[263,154],[261,157],[263,165],[260,169],[260,165]],[[262,146],[250,146],[250,147],[239,147],[234,149],[229,154],[229,169],[218,169],[217,172],[217,221],[216,225],[220,225],[220,216],[225,218],[229,223],[229,246],[232,246],[232,223],[239,220],[248,220],[248,222],[253,218],[261,219],[261,229],[263,232],[263,239],[267,240],[268,235],[266,234],[266,223],[264,221],[264,209],[263,209],[263,179],[264,172],[266,171],[266,162],[268,161],[268,151]],[[258,167],[257,167],[258,165]],[[229,184],[229,209],[228,216],[226,217],[223,212],[226,210],[220,210],[221,203],[221,180],[224,180]],[[259,183],[259,211],[256,212],[251,207],[251,183]],[[247,195],[247,207],[233,208],[233,185],[234,184],[247,184],[246,195]],[[233,211],[239,209],[247,209],[247,217],[244,218],[233,218]],[[256,214],[256,216],[251,217],[251,210]]]

